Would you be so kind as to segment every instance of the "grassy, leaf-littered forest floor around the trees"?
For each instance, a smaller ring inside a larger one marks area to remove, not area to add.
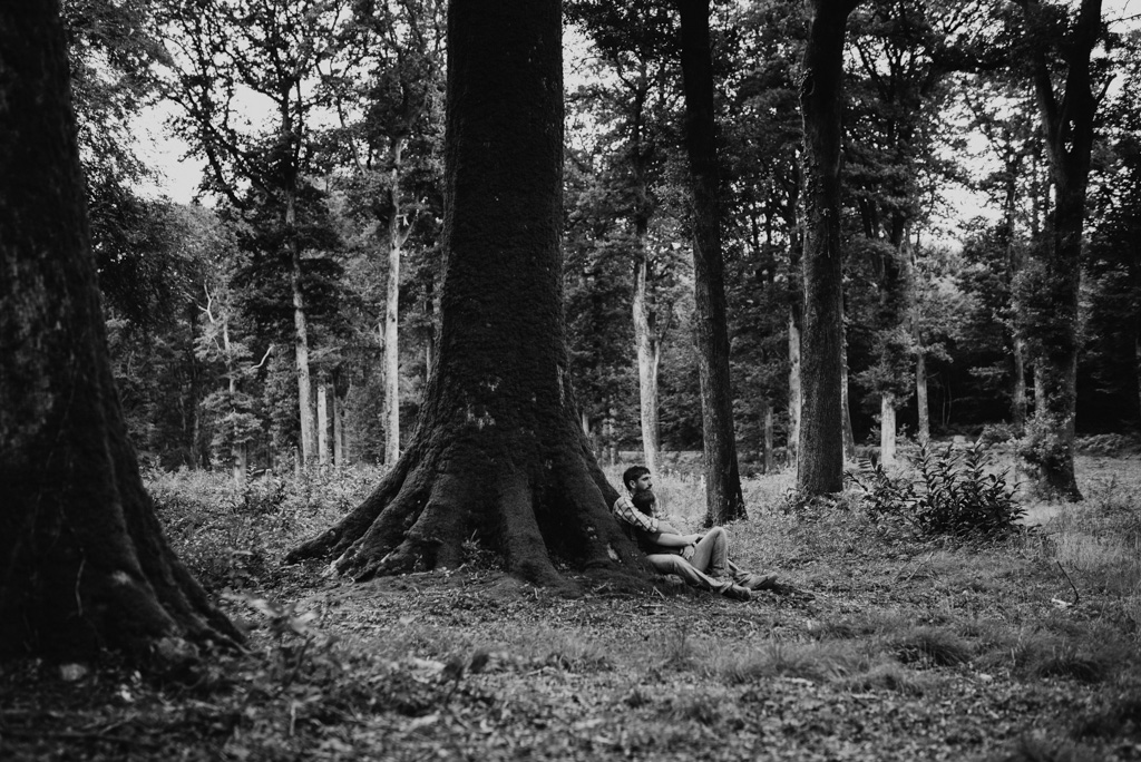
[[[153,475],[168,533],[249,630],[186,674],[0,671],[2,760],[1141,760],[1141,462],[1079,462],[1086,500],[992,543],[885,533],[853,501],[746,483],[743,566],[806,597],[669,582],[568,597],[471,549],[355,584],[282,551],[374,471],[244,491]],[[696,479],[663,476],[680,520]]]

